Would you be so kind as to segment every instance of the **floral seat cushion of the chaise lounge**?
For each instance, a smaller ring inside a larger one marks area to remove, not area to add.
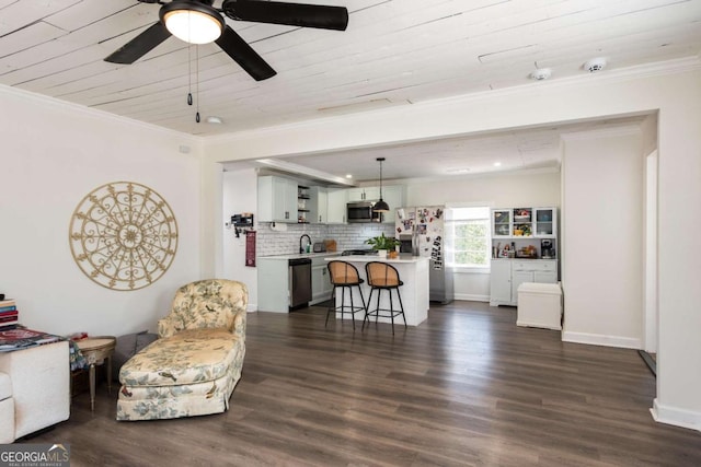
[[[159,339],[119,371],[125,386],[174,386],[220,378],[243,342],[227,329],[189,329]]]

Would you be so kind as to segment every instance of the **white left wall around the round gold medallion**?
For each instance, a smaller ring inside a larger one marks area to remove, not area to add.
[[[4,86],[0,108],[0,292],[16,300],[20,322],[59,335],[154,331],[175,289],[199,279],[200,142]],[[90,280],[68,241],[83,197],[120,180],[165,199],[180,233],[170,269],[137,291]]]

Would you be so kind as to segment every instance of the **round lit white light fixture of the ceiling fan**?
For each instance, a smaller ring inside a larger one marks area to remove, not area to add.
[[[192,1],[172,1],[159,13],[165,28],[189,44],[209,44],[221,36],[223,17],[214,8]]]

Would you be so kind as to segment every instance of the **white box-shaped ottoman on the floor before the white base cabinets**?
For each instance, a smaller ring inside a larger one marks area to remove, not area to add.
[[[521,283],[518,287],[516,325],[562,329],[562,288],[560,283]]]

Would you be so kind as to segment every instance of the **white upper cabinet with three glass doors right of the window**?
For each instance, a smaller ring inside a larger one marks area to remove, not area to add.
[[[492,210],[493,238],[556,238],[558,208]]]

